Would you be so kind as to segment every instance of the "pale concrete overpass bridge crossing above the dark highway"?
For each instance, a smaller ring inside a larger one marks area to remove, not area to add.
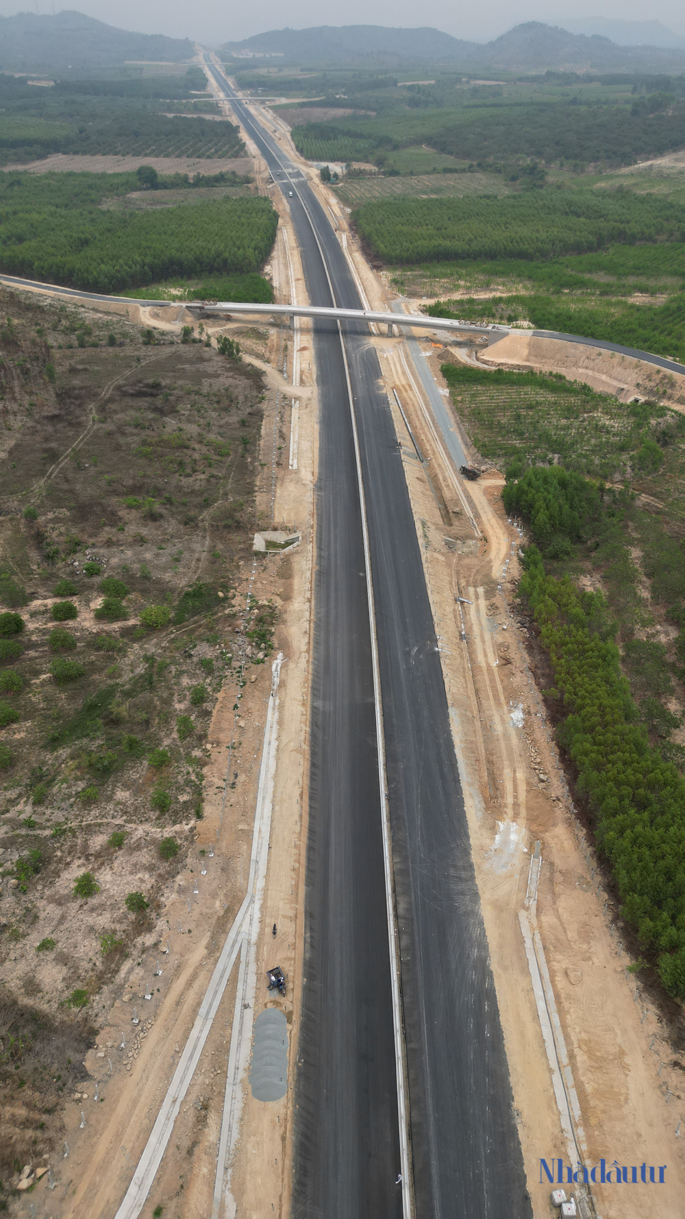
[[[285,317],[290,324],[293,317],[327,317],[340,322],[375,322],[388,327],[388,334],[392,334],[392,327],[418,327],[424,330],[446,330],[450,334],[477,334],[488,338],[491,346],[500,339],[506,339],[511,333],[508,325],[485,325],[478,322],[461,322],[455,318],[428,317],[425,313],[380,313],[367,308],[333,308],[321,305],[246,305],[234,301],[219,301],[217,305],[186,304],[189,313],[196,317],[213,317],[227,315],[233,317],[236,313],[250,316]]]

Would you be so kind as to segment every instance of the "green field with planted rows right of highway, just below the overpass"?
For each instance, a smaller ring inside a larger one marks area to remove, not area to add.
[[[484,377],[488,374],[484,374]],[[635,421],[616,399],[546,393],[544,386],[457,385],[455,408],[481,456],[503,468],[556,460],[601,478],[622,473],[635,450]]]

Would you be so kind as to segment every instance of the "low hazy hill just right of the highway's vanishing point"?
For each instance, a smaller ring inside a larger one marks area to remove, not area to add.
[[[288,63],[401,63],[407,60],[467,60],[480,48],[439,29],[385,26],[314,26],[311,29],[272,29],[241,43],[225,43],[224,55],[245,59],[274,55]]]

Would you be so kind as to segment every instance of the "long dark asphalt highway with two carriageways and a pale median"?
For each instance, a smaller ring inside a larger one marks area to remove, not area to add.
[[[272,173],[288,158],[213,66]],[[278,182],[278,177],[275,176]],[[297,173],[297,177],[300,174]],[[360,308],[334,230],[285,183],[314,305]],[[328,275],[327,275],[328,272]],[[344,324],[367,505],[421,1219],[529,1219],[440,657],[368,330]],[[317,322],[316,638],[293,1214],[401,1215],[396,1069],[360,496],[339,330]]]

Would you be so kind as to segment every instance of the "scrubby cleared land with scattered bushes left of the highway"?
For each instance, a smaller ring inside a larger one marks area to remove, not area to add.
[[[167,930],[157,912],[202,818],[211,712],[239,680],[232,590],[255,525],[262,385],[202,343],[1,302],[0,596],[23,620],[0,664],[11,1175],[61,1145],[110,984]],[[247,663],[268,657],[273,625],[255,602]]]

